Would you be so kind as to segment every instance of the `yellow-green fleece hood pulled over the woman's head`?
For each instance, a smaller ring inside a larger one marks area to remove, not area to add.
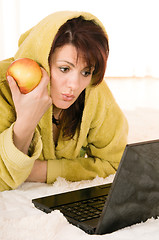
[[[23,57],[31,58],[45,68],[48,74],[50,74],[48,57],[58,29],[67,20],[81,15],[86,20],[94,20],[105,31],[100,20],[90,13],[73,11],[55,12],[21,35],[18,42],[19,49],[14,59]]]

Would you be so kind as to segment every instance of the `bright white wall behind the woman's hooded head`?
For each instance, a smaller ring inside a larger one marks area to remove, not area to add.
[[[107,76],[159,77],[158,6],[158,0],[0,0],[0,60],[13,56],[20,34],[48,14],[82,10],[107,29]]]

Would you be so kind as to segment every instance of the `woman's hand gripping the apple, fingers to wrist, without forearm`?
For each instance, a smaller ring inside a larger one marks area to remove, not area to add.
[[[42,69],[42,74],[43,76],[39,85],[27,94],[22,94],[14,79],[12,77],[8,77],[16,109],[17,121],[23,120],[23,124],[28,123],[29,121],[29,126],[37,125],[41,117],[52,104],[52,100],[48,95],[47,89],[50,79],[44,69]]]

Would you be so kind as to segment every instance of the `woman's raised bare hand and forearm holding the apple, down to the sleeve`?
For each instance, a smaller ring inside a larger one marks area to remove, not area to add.
[[[48,95],[47,88],[50,78],[44,69],[42,69],[42,74],[39,85],[27,94],[20,92],[12,77],[8,76],[7,78],[17,114],[13,140],[15,146],[25,154],[28,153],[38,122],[52,105],[52,99]]]

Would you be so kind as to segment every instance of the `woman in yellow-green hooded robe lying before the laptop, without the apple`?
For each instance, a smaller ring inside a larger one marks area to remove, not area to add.
[[[21,36],[14,58],[0,63],[1,191],[115,173],[127,121],[103,81],[108,54],[106,31],[89,13],[51,14]],[[6,81],[8,66],[23,57],[43,73],[28,94]]]

